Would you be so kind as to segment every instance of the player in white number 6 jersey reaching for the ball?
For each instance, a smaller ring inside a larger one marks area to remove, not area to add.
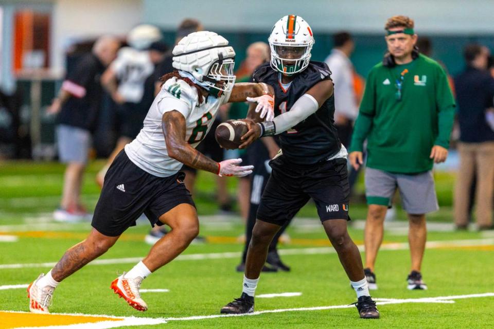
[[[152,225],[166,224],[172,230],[141,262],[116,278],[111,288],[135,309],[147,310],[139,294],[141,282],[177,257],[199,232],[197,211],[179,171],[182,164],[224,176],[241,177],[252,172],[252,166],[239,166],[240,159],[218,163],[195,147],[224,103],[256,102],[258,117],[271,120],[273,88],[264,83],[234,84],[235,51],[214,32],[189,34],[175,46],[173,54],[177,71],[165,76],[144,128],[119,153],[105,176],[91,233],[29,285],[31,312],[48,313],[57,285],[106,252],[142,213]]]

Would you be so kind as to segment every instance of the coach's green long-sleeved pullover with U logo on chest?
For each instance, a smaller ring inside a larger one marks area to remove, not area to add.
[[[436,61],[420,54],[393,68],[378,64],[366,81],[350,152],[362,151],[367,139],[369,168],[403,174],[431,170],[433,145],[449,147],[454,106],[446,72]]]

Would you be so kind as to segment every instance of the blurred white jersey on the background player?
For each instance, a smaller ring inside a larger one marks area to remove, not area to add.
[[[126,102],[139,103],[144,95],[144,83],[153,73],[154,64],[147,50],[123,47],[112,62],[118,78],[118,93]]]

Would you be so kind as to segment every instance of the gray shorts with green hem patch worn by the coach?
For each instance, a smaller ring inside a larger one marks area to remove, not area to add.
[[[365,169],[368,205],[391,206],[396,189],[400,191],[403,209],[409,214],[425,214],[439,209],[432,171],[407,175]]]

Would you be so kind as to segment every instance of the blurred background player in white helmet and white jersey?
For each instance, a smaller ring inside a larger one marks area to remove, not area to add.
[[[118,51],[117,58],[105,70],[101,83],[118,104],[119,135],[107,164],[98,172],[96,181],[103,186],[104,175],[113,159],[130,143],[143,127],[149,107],[154,100],[152,73],[163,59],[167,47],[161,42],[163,35],[155,26],[139,25],[127,37],[130,47]]]

